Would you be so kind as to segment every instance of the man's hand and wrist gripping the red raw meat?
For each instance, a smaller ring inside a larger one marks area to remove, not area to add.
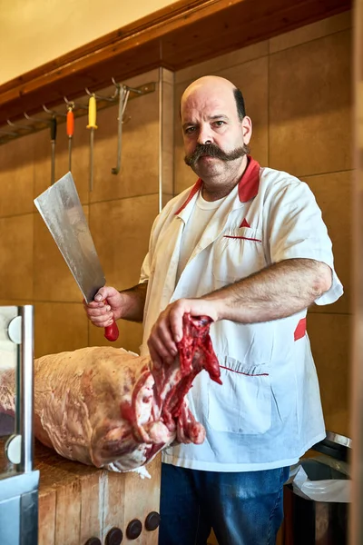
[[[218,320],[217,302],[204,299],[179,299],[169,304],[152,327],[148,346],[152,362],[161,366],[172,363],[178,353],[177,342],[182,341],[182,317],[185,312],[191,316],[210,316]]]

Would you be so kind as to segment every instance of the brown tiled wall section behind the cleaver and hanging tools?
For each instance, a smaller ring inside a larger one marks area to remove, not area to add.
[[[125,83],[138,86],[150,82],[156,83],[155,92],[127,104],[122,169],[117,176],[111,173],[116,163],[117,105],[98,113],[92,193],[88,190],[87,119],[75,121],[74,181],[107,283],[119,289],[139,280],[152,222],[159,210],[159,186],[163,186],[163,174],[172,172],[172,135],[167,127],[159,155],[159,105],[165,125],[168,111],[172,111],[172,74],[154,70]],[[58,125],[55,164],[58,179],[68,170],[64,124]],[[49,183],[48,130],[0,146],[0,304],[34,304],[36,356],[108,343],[103,330],[88,323],[81,293],[34,207],[34,198]],[[170,181],[165,182],[164,191],[172,193]],[[114,345],[138,352],[141,335],[140,324],[122,322],[120,339]]]

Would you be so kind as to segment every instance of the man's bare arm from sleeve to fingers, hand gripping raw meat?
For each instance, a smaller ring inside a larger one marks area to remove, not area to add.
[[[172,362],[182,339],[182,316],[206,314],[214,321],[269,322],[309,307],[331,286],[326,263],[290,259],[208,293],[199,299],[172,302],[155,322],[148,341],[152,360]]]

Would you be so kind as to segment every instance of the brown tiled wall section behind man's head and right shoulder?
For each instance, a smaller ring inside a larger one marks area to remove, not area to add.
[[[251,45],[175,74],[174,192],[194,183],[183,163],[177,105],[201,75],[231,79],[254,127],[251,153],[262,165],[309,183],[328,225],[345,295],[314,306],[308,330],[327,428],[349,433],[352,96],[351,14]]]

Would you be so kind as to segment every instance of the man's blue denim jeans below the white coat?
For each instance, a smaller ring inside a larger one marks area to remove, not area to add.
[[[273,545],[289,468],[217,472],[162,464],[159,545]]]

